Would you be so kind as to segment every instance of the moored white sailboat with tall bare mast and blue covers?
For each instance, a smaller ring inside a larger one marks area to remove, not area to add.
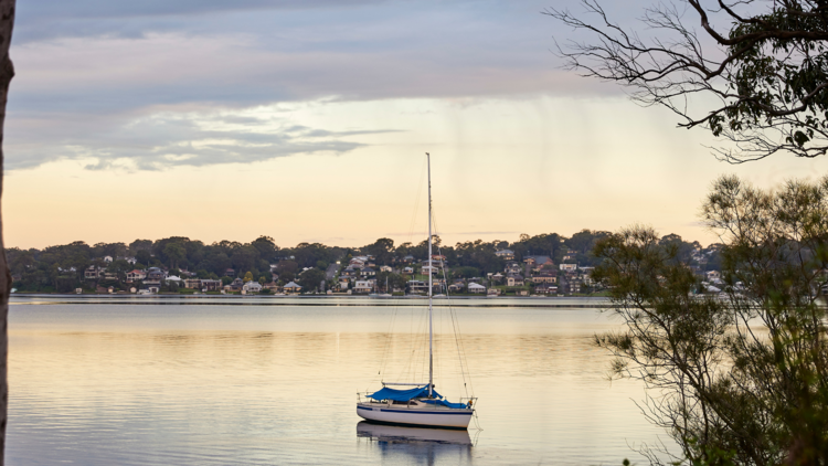
[[[428,160],[428,260],[432,261],[432,159]],[[382,382],[382,389],[358,394],[357,414],[368,421],[412,426],[468,428],[476,398],[453,403],[434,390],[434,277],[428,273],[428,382]],[[407,386],[399,389],[395,386]],[[464,402],[465,401],[465,402]]]

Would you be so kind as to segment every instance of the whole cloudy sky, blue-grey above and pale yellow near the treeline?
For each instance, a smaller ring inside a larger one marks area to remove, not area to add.
[[[649,1],[607,2],[620,22]],[[6,120],[8,246],[189,236],[444,243],[634,223],[703,244],[703,131],[562,68],[560,0],[29,0]]]

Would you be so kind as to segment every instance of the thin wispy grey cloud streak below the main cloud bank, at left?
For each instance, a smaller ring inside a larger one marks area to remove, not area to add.
[[[284,118],[160,113],[109,126],[100,120],[65,128],[38,145],[7,145],[9,169],[36,167],[60,159],[93,159],[92,170],[162,170],[251,163],[300,153],[341,155],[364,144],[346,140],[379,130],[332,131],[290,125]],[[87,126],[97,126],[93,130]],[[36,131],[36,129],[32,129]]]

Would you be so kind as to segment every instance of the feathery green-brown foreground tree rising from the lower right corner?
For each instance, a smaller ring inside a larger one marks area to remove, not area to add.
[[[681,251],[650,229],[598,242],[595,278],[626,325],[597,345],[649,389],[644,411],[679,460],[828,465],[828,178],[772,193],[723,177],[702,218],[724,240],[721,295],[694,296]]]

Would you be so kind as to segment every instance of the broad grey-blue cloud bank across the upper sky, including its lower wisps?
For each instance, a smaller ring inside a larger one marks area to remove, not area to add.
[[[7,166],[95,157],[96,168],[117,160],[162,169],[346,153],[364,145],[360,136],[388,130],[291,133],[283,121],[274,133],[273,121],[242,112],[279,103],[615,93],[555,67],[552,23],[539,14],[545,7],[540,0],[23,2],[11,52]]]

